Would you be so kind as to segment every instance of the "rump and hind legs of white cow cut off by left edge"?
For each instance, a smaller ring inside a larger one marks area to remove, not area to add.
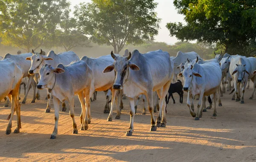
[[[8,117],[8,120],[10,119],[10,121],[6,129],[6,134],[10,134],[12,132],[12,118],[15,111],[17,114],[17,128],[14,133],[20,132],[20,103],[18,101],[18,95],[23,75],[23,69],[14,60],[4,59],[0,61],[0,100],[8,96],[11,98],[12,102],[11,114]]]

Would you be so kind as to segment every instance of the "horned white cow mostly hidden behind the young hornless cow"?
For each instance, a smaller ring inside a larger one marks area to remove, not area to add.
[[[79,61],[79,57],[73,51],[62,52],[58,53],[57,55],[54,53],[53,50],[50,50],[47,56],[42,55],[43,51],[41,50],[40,53],[35,53],[32,50],[33,55],[26,58],[31,64],[30,69],[28,70],[30,75],[35,75],[39,73],[39,69],[44,66],[44,64],[50,64],[52,67],[57,67],[58,64],[64,64],[64,66],[70,64],[72,61]],[[47,90],[47,108],[45,112],[51,112],[51,93]],[[66,105],[63,103],[62,111],[66,111]]]

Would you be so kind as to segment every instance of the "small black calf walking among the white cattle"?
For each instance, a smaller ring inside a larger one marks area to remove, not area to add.
[[[169,96],[168,96],[168,100],[166,103],[167,104],[169,103],[169,99],[171,96],[172,96],[173,103],[175,103],[175,100],[172,95],[173,93],[179,94],[180,95],[180,103],[183,103],[183,90],[182,89],[183,89],[183,85],[180,80],[178,80],[175,84],[171,84],[169,87],[169,90],[168,90]],[[166,97],[167,97],[167,95],[166,95]]]

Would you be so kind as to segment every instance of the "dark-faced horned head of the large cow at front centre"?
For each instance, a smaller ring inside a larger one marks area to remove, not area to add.
[[[126,79],[125,76],[127,77],[126,74],[128,73],[129,68],[131,68],[131,70],[140,70],[140,67],[129,61],[129,59],[131,58],[131,52],[127,57],[122,57],[114,55],[113,51],[111,51],[111,56],[114,59],[114,63],[108,65],[103,70],[103,73],[109,73],[115,70],[113,89],[122,89],[122,85],[124,84],[124,80]]]

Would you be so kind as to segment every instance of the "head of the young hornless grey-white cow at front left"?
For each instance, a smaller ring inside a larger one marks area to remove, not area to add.
[[[53,68],[51,65],[45,64],[40,70],[40,80],[38,82],[38,89],[52,88],[55,84],[56,74],[64,73],[65,70],[57,67]]]

